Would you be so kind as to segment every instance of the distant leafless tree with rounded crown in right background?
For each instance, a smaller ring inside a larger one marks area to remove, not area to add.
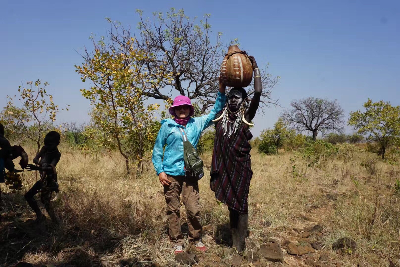
[[[290,106],[282,118],[298,132],[311,132],[314,141],[318,132],[343,132],[344,110],[336,100],[309,97],[293,100]]]

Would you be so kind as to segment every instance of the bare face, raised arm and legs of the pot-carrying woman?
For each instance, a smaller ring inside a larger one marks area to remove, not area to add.
[[[252,62],[253,70],[258,68],[257,62],[253,56],[249,56],[250,61]],[[245,111],[244,118],[247,122],[251,122],[256,116],[256,112],[258,106],[260,104],[261,92],[262,92],[262,85],[261,85],[261,78],[257,77],[254,78],[254,95],[250,102],[250,107]],[[228,107],[229,110],[232,112],[237,111],[243,99],[239,96],[230,95],[228,98]],[[248,127],[247,125],[244,125]],[[212,191],[215,190],[214,187],[214,180],[210,180],[210,189]],[[232,249],[231,253],[233,254],[232,258],[232,267],[240,267],[242,263],[242,252],[244,250],[244,242],[246,238],[246,233],[248,229],[248,213],[239,213],[234,209],[229,209],[229,220],[230,220],[230,228],[231,228],[231,235],[232,235]]]

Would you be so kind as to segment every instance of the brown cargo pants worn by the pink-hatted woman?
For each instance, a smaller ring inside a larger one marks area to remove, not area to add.
[[[164,185],[164,196],[167,202],[168,235],[172,246],[184,244],[182,231],[180,229],[180,194],[186,208],[189,228],[189,243],[201,241],[202,225],[200,223],[199,186],[197,181],[186,181],[185,176],[170,176],[170,185]]]

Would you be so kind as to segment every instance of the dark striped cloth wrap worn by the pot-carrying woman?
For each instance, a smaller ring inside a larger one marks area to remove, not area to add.
[[[228,122],[228,129],[229,126]],[[215,129],[210,173],[211,179],[214,179],[215,197],[239,213],[247,213],[253,175],[249,141],[253,135],[244,123],[229,138],[224,135],[222,120],[216,123]]]

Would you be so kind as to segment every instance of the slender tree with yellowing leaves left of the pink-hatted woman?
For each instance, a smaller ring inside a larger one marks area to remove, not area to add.
[[[154,142],[159,129],[155,121],[159,105],[146,106],[144,90],[159,86],[160,80],[168,79],[168,74],[160,68],[152,70],[150,76],[141,62],[154,60],[152,56],[138,49],[134,38],[125,41],[106,44],[104,38],[97,43],[93,39],[94,52],[86,50],[86,55],[82,55],[85,63],[75,67],[82,82],[90,79],[93,83],[81,92],[94,106],[91,112],[94,125],[115,139],[127,172],[131,158],[137,160],[140,173],[147,146]]]

